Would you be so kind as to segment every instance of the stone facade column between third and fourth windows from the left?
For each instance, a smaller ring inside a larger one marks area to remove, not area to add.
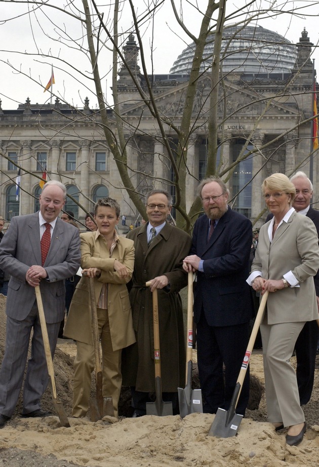
[[[78,201],[79,203],[86,208],[87,210],[91,210],[91,203],[86,198],[92,198],[92,193],[90,190],[90,180],[89,180],[89,163],[90,163],[90,141],[79,140],[78,145],[81,147],[81,175],[78,177],[75,175],[76,183],[81,190],[79,194]],[[93,169],[95,170],[95,161],[94,161],[94,154],[93,157]],[[92,167],[92,166],[91,166]],[[93,177],[96,179],[95,174]],[[90,206],[89,206],[90,205]],[[89,209],[90,208],[90,209]],[[85,217],[85,213],[82,209],[78,210],[79,217]]]

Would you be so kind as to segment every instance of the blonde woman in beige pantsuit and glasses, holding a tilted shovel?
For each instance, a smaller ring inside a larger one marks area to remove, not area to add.
[[[266,178],[262,191],[273,218],[260,229],[247,281],[262,294],[269,291],[260,326],[268,419],[276,431],[288,427],[286,443],[296,446],[306,423],[289,359],[305,322],[319,318],[313,282],[318,237],[313,222],[291,208],[296,189],[286,175]]]

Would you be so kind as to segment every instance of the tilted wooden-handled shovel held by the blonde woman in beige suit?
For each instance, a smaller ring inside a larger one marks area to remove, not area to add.
[[[230,401],[230,406],[228,410],[218,409],[215,415],[214,421],[212,426],[210,427],[209,435],[216,436],[217,438],[230,438],[231,436],[235,436],[238,431],[238,427],[241,424],[243,419],[243,415],[239,415],[235,413],[235,409],[237,406],[238,399],[241,395],[243,382],[245,379],[246,371],[248,368],[249,360],[251,357],[251,353],[254,348],[254,343],[256,340],[257,332],[259,325],[262,321],[262,317],[264,314],[264,309],[266,306],[266,301],[268,297],[268,290],[263,294],[258,313],[255,319],[255,324],[248,342],[248,347],[245,353],[245,357],[242,363],[242,368],[240,374],[238,375],[237,382],[235,385],[235,389]]]

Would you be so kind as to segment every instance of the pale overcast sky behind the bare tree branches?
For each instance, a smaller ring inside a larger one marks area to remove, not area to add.
[[[142,15],[145,5],[154,4],[154,2],[158,3],[157,0],[134,0],[134,5],[138,9],[138,14]],[[47,3],[62,8],[65,4],[62,0],[48,0]],[[74,0],[72,3],[82,10],[80,0]],[[178,11],[181,11],[181,8],[183,9],[183,19],[186,26],[196,35],[201,14],[196,12],[196,9],[190,3],[196,5],[196,0],[190,0],[190,2],[188,0],[176,0]],[[110,4],[109,0],[100,2],[100,4],[104,5],[100,9],[100,11],[104,12],[104,21],[106,21],[108,27],[111,27],[113,6],[105,6]],[[206,4],[206,0],[198,0],[198,5]],[[249,2],[227,0],[226,16],[240,7],[242,14],[248,10],[246,17],[249,17],[253,14],[253,9],[256,9],[258,5],[266,6],[270,2],[260,0],[258,3],[255,2],[253,7],[245,7],[246,4],[249,4]],[[132,15],[128,8],[128,0],[124,0],[122,5],[124,5],[124,9],[118,22],[119,32],[123,32],[124,37],[127,38],[129,31],[132,30]],[[299,42],[301,32],[305,27],[310,41],[318,45],[318,5],[312,0],[298,0],[295,2],[278,0],[275,4],[277,10],[294,9],[295,14],[293,16],[282,14],[260,19],[257,24],[285,36],[293,43]],[[31,7],[36,9],[36,2]],[[44,93],[38,82],[44,86],[47,85],[51,76],[51,63],[54,64],[54,93],[61,96],[61,99],[65,99],[78,107],[83,107],[84,99],[89,97],[90,107],[95,108],[97,99],[94,95],[93,83],[89,79],[89,59],[72,43],[73,38],[83,36],[81,23],[51,8],[44,9],[45,14],[39,13],[36,19],[34,14],[30,16],[24,14],[27,12],[27,6],[23,2],[16,3],[9,0],[0,0],[0,11],[0,98],[2,108],[16,109],[18,104],[25,102],[27,97],[30,98],[31,103],[44,104],[50,102],[50,93]],[[73,11],[76,14],[76,10]],[[229,22],[233,23],[233,20]],[[182,33],[177,25],[171,2],[165,0],[156,13],[154,22],[149,21],[143,24],[141,29],[146,56],[148,57],[148,73],[152,71],[151,63],[153,63],[154,73],[169,73],[174,60],[191,42],[189,37]],[[154,52],[153,61],[151,62],[149,50],[152,29],[154,30]],[[53,36],[54,41],[50,38]],[[64,45],[65,42],[67,42],[68,47]],[[83,47],[86,46],[87,44],[84,41]],[[59,56],[60,60],[46,55]],[[315,68],[318,70],[319,76],[319,48],[314,49],[311,58],[315,59]],[[100,59],[99,71],[103,75],[107,100],[111,102],[109,87],[111,86],[112,57],[104,48],[101,51]],[[14,70],[10,64],[19,71]],[[31,76],[31,80],[28,76]]]

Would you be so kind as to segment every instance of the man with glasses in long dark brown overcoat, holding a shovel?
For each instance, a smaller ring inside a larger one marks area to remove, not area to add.
[[[131,386],[133,417],[146,414],[155,392],[152,291],[158,291],[163,400],[179,413],[177,388],[185,386],[186,348],[179,291],[187,285],[182,261],[189,235],[170,225],[171,195],[161,189],[146,197],[148,222],[128,233],[134,240],[135,265],[130,291],[136,344],[123,353],[123,384]],[[151,281],[151,287],[145,283]]]

